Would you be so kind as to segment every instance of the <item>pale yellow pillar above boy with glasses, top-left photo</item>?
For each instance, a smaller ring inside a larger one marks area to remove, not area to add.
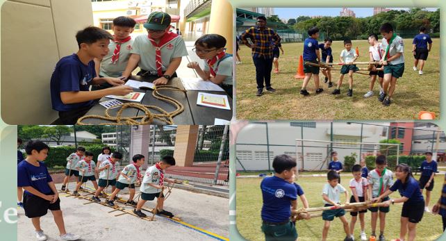
[[[216,33],[226,38],[226,53],[232,53],[233,46],[233,10],[231,3],[227,0],[212,1],[210,7],[210,20],[208,33]],[[225,19],[225,21],[222,21]],[[231,24],[227,24],[231,22]]]

